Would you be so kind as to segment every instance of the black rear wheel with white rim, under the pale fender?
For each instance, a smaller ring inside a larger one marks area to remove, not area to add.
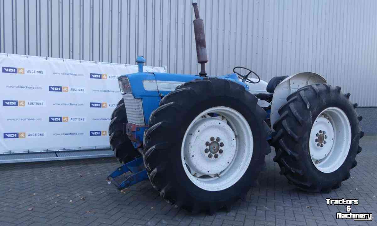
[[[287,97],[274,123],[274,161],[298,188],[330,192],[350,177],[360,153],[360,130],[349,93],[328,84],[302,87]]]

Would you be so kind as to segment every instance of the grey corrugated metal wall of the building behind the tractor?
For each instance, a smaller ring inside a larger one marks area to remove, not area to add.
[[[191,0],[0,0],[0,52],[198,73]],[[377,1],[198,0],[209,75],[313,71],[377,106]]]

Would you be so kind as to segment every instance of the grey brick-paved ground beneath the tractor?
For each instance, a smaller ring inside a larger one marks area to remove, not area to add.
[[[113,158],[0,165],[0,226],[7,225],[365,225],[377,220],[377,137],[364,137],[351,178],[329,194],[297,190],[267,158],[262,183],[231,212],[191,215],[164,202],[148,181],[121,193],[106,176]],[[345,206],[325,198],[358,198],[354,212],[371,212],[373,221],[336,221]]]

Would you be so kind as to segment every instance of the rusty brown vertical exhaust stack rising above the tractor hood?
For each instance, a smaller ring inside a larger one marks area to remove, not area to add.
[[[199,18],[198,3],[192,3],[194,7],[195,20],[194,23],[194,33],[195,33],[195,43],[196,43],[196,55],[198,56],[198,63],[200,64],[200,76],[207,76],[205,72],[205,63],[208,62],[207,59],[207,47],[205,47],[205,35],[204,35],[204,23],[203,19]]]

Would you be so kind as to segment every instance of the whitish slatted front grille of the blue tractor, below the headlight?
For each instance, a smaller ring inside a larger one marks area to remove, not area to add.
[[[132,94],[123,95],[124,106],[126,107],[127,120],[135,125],[145,125],[143,102],[141,99],[133,98]]]

